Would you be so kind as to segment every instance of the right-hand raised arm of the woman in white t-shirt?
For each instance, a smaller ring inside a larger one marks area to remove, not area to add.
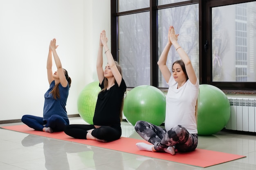
[[[171,28],[169,29],[169,37],[170,37],[171,43],[173,44],[176,51],[180,55],[180,58],[182,59],[182,61],[185,64],[186,73],[188,74],[189,81],[192,84],[195,84],[196,81],[197,81],[195,70],[192,66],[192,63],[191,63],[191,60],[189,59],[189,56],[186,54],[186,52],[183,50],[183,48],[178,43],[178,41],[177,41],[178,40],[178,35],[175,34],[175,30],[174,30],[173,26],[171,26]]]

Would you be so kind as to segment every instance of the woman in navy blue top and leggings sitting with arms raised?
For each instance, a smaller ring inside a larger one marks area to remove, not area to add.
[[[47,58],[47,77],[50,87],[45,93],[43,117],[24,115],[21,119],[23,123],[36,131],[49,133],[64,131],[64,127],[69,124],[66,102],[71,78],[68,76],[67,70],[62,68],[61,60],[56,52],[57,47],[54,38],[50,42]],[[52,74],[52,54],[57,67],[54,74]]]

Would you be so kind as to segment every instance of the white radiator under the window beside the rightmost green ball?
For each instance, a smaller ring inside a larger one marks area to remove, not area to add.
[[[228,98],[231,115],[228,130],[256,132],[256,98]]]

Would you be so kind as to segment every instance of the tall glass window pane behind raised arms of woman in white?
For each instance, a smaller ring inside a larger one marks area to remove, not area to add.
[[[158,11],[158,54],[159,57],[168,41],[168,28],[173,25],[175,33],[180,34],[178,42],[189,55],[195,72],[199,78],[199,15],[198,4],[186,5],[182,7],[162,9]],[[179,60],[180,56],[171,47],[167,66],[172,70],[174,61]],[[164,77],[159,70],[159,87],[168,87]]]

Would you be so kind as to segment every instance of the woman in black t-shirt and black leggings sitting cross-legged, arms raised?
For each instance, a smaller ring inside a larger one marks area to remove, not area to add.
[[[108,48],[106,32],[102,31],[97,57],[97,74],[101,91],[95,107],[93,124],[70,124],[65,133],[77,139],[91,139],[102,142],[121,137],[121,120],[126,83],[122,78],[121,66],[114,61]],[[103,47],[108,64],[103,70]]]

